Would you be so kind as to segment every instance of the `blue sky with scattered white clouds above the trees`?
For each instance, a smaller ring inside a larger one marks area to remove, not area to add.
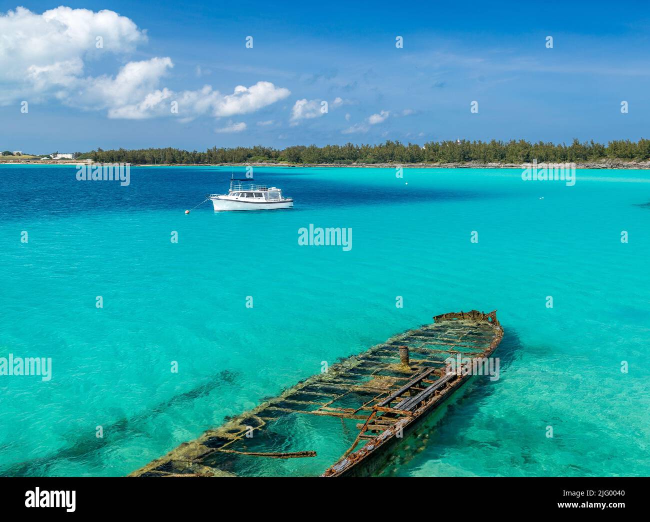
[[[650,137],[647,3],[61,1],[0,0],[0,150]]]

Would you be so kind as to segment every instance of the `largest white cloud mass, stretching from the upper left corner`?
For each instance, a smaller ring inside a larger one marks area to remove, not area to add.
[[[114,76],[84,77],[87,60],[131,53],[146,40],[146,32],[131,19],[109,10],[61,6],[36,14],[18,7],[0,14],[0,105],[54,98],[83,110],[106,110],[109,118],[176,116],[189,121],[203,114],[249,114],[291,94],[265,81],[239,85],[226,95],[209,85],[174,92],[161,86],[174,67],[169,57],[128,62]],[[204,73],[209,71],[197,69],[197,75]],[[172,111],[174,101],[177,112]]]

